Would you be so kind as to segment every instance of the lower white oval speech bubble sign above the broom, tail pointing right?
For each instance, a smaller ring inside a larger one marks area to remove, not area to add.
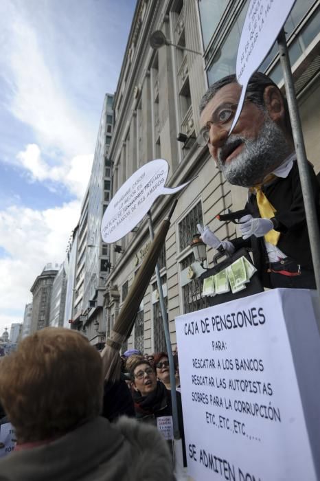
[[[105,243],[116,242],[133,230],[159,195],[175,194],[187,186],[189,182],[176,188],[165,187],[168,171],[166,160],[152,160],[124,182],[104,212],[101,235]]]

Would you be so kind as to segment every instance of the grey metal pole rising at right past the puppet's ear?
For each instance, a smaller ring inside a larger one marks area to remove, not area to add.
[[[299,118],[299,110],[297,98],[295,96],[295,85],[293,83],[293,74],[291,72],[290,59],[288,55],[288,46],[286,44],[286,34],[282,28],[277,38],[279,47],[280,62],[284,73],[284,87],[286,89],[286,98],[290,113],[291,126],[293,128],[293,141],[295,142],[295,152],[297,154],[297,162],[299,168],[299,176],[301,181],[302,197],[304,199],[304,208],[306,210],[306,221],[308,234],[310,239],[310,248],[312,254],[313,269],[315,271],[315,280],[318,291],[318,299],[320,303],[320,237],[319,225],[315,209],[315,201],[312,195],[312,185],[310,174],[308,171],[308,161],[306,157],[306,149],[304,147],[304,136],[302,134],[301,122]],[[318,330],[320,333],[320,319],[317,317]]]

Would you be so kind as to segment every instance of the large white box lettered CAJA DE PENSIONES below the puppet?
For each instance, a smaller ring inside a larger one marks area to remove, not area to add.
[[[319,479],[320,342],[310,291],[274,289],[181,315],[176,335],[190,476]]]

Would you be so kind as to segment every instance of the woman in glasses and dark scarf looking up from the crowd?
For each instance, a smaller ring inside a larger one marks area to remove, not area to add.
[[[168,358],[167,358],[168,359]],[[172,402],[171,392],[163,382],[157,379],[155,368],[145,359],[134,363],[130,372],[133,379],[135,404],[135,416],[138,421],[155,425],[163,437],[168,440],[172,449],[173,425],[172,425]],[[183,430],[183,414],[181,394],[176,393],[178,408],[178,423],[183,445],[183,462],[186,466],[185,440]]]

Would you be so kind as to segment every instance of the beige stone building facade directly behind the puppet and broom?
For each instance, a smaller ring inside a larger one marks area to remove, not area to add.
[[[194,142],[199,131],[198,104],[207,86],[236,69],[247,5],[243,0],[139,0],[115,94],[115,126],[107,156],[112,164],[113,194],[137,168],[157,158],[167,160],[170,166],[166,186],[178,186],[195,178],[179,194],[160,260],[172,346],[176,344],[175,317],[205,307],[198,279],[201,267],[194,262],[190,249],[196,224],[209,225],[221,240],[233,238],[234,225],[218,223],[216,215],[227,208],[243,208],[247,197],[245,189],[225,182],[214,168],[207,147]],[[319,1],[297,0],[285,26],[307,153],[316,172],[320,170],[317,23]],[[153,49],[149,39],[157,30],[163,32],[167,44]],[[261,70],[283,86],[277,47],[264,60]],[[171,201],[169,196],[162,196],[152,206],[155,231]],[[121,249],[111,248],[112,269],[106,280],[104,302],[107,335],[149,243],[148,222],[143,219],[117,242]],[[212,256],[212,249],[207,249],[209,266]],[[165,348],[155,276],[124,348],[127,346],[147,353]]]

